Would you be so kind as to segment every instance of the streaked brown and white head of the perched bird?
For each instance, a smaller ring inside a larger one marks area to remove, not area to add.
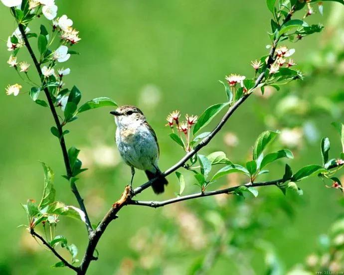
[[[131,105],[120,106],[115,111],[110,112],[110,114],[114,115],[118,127],[127,127],[136,123],[141,124],[146,121],[146,117],[142,111]]]

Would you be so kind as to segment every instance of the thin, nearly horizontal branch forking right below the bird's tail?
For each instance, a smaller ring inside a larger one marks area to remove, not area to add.
[[[246,186],[246,187],[258,187],[258,186],[268,186],[268,185],[277,185],[278,183],[283,182],[283,179],[277,179],[273,181],[265,181],[265,182],[257,182],[257,183],[246,183],[244,185],[238,185],[234,187],[229,187],[226,189],[216,190],[216,191],[209,191],[209,192],[203,192],[203,193],[195,193],[191,195],[185,195],[177,198],[172,198],[165,201],[137,201],[137,200],[130,200],[128,204],[132,205],[141,205],[141,206],[149,206],[153,208],[162,207],[168,204],[184,201],[184,200],[190,200],[190,199],[196,199],[201,197],[208,197],[208,196],[214,196],[219,194],[230,194],[235,192],[239,187]]]

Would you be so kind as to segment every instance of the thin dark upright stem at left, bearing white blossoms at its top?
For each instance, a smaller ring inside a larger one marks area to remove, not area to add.
[[[15,9],[12,8],[12,11],[13,11],[13,14],[15,14]],[[37,73],[39,75],[39,78],[40,78],[40,81],[41,81],[41,84],[44,85],[44,77],[43,77],[43,74],[42,74],[42,71],[41,71],[41,68],[40,68],[40,64],[31,48],[31,45],[27,39],[27,36],[26,36],[26,33],[25,33],[25,25],[19,23],[17,21],[17,24],[18,24],[18,27],[19,27],[19,30],[20,30],[20,33],[23,37],[23,40],[25,42],[25,46],[32,58],[32,61],[36,67],[36,70],[37,70]],[[49,90],[48,88],[44,88],[44,93],[45,93],[45,96],[47,98],[47,101],[48,101],[48,104],[49,104],[49,108],[50,108],[50,111],[51,111],[51,114],[54,118],[54,121],[55,121],[55,124],[56,124],[56,127],[57,127],[57,130],[58,130],[58,133],[59,133],[59,136],[61,137],[59,139],[59,142],[60,142],[60,146],[61,146],[61,149],[62,149],[62,154],[63,154],[63,160],[64,160],[64,164],[65,164],[65,167],[66,167],[66,173],[67,173],[67,177],[68,179],[70,179],[73,175],[72,175],[72,169],[71,169],[71,165],[70,165],[70,161],[69,161],[69,157],[68,157],[68,152],[67,152],[67,147],[66,147],[66,142],[65,142],[65,139],[62,135],[63,133],[63,130],[62,130],[62,125],[58,119],[58,115],[56,113],[56,109],[55,109],[55,106],[54,106],[54,103],[51,99],[51,96],[50,96],[50,93],[49,93]],[[71,184],[71,189],[72,189],[72,192],[74,193],[78,203],[79,203],[79,206],[80,206],[80,209],[85,213],[85,220],[86,220],[86,228],[87,228],[87,231],[88,231],[88,234],[91,234],[93,232],[93,229],[92,229],[92,224],[91,224],[91,221],[88,217],[88,214],[87,214],[87,211],[86,211],[86,207],[85,207],[85,204],[84,204],[84,200],[83,198],[81,197],[79,191],[78,191],[78,188],[76,187],[76,184],[75,182],[71,181],[70,182]]]

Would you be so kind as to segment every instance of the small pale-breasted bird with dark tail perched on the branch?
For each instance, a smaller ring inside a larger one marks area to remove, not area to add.
[[[137,168],[144,170],[149,180],[157,178],[152,183],[153,191],[163,193],[168,181],[158,167],[159,143],[145,115],[139,108],[130,105],[121,106],[110,114],[115,116],[118,150],[124,162],[131,167],[130,186]]]

